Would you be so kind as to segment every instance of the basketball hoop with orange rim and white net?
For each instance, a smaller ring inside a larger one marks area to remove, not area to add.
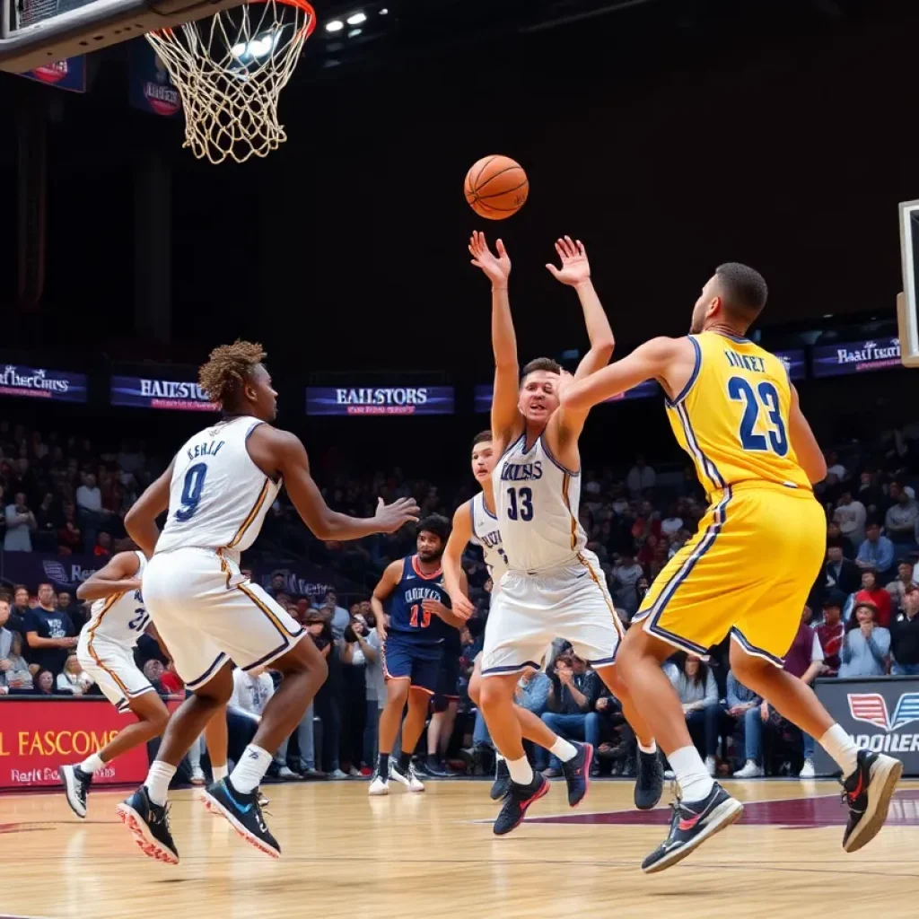
[[[315,27],[307,0],[252,0],[148,33],[182,96],[183,146],[214,164],[277,150],[287,140],[278,96]]]

